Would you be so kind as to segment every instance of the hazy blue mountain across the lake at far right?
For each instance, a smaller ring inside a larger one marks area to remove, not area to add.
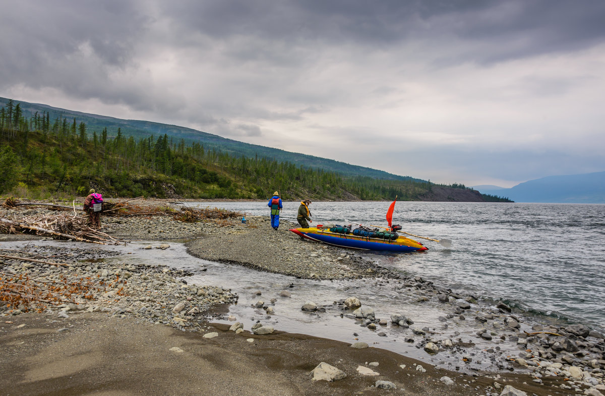
[[[605,203],[605,171],[541,177],[511,188],[473,188],[480,193],[508,197],[515,202]]]

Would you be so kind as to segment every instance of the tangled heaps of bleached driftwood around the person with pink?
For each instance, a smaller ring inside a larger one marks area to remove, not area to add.
[[[132,203],[132,201],[138,199],[103,202],[102,216],[171,216],[174,220],[181,222],[214,222],[219,226],[237,225],[237,222],[233,220],[240,219],[242,216],[241,213],[219,208],[182,206],[180,210],[175,210],[165,205],[137,205]],[[21,202],[10,197],[2,203],[4,208],[10,210],[36,205],[50,206],[57,212],[37,216],[18,216],[18,213],[15,213],[13,216],[0,217],[0,233],[48,235],[55,239],[76,240],[102,245],[120,242],[98,229],[91,228],[88,225],[88,215],[83,213],[81,207],[76,208],[74,202],[71,206],[66,206],[54,203]]]

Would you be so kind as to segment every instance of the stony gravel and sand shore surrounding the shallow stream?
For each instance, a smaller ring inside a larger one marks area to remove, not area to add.
[[[22,207],[2,209],[0,217],[51,213]],[[445,320],[470,312],[467,305],[473,296],[440,290],[427,280],[405,279],[355,251],[301,240],[287,231],[297,225],[282,222],[280,229],[273,231],[268,216],[246,219],[246,224],[220,226],[214,222],[183,223],[168,216],[102,217],[102,231],[123,241],[178,240],[186,242],[188,252],[201,259],[296,278],[387,279],[419,299],[442,301],[451,315],[445,315]],[[238,295],[231,290],[189,285],[186,271],[161,263],[120,262],[114,252],[89,243],[80,243],[77,248],[36,246],[40,239],[0,234],[3,256],[45,262],[0,257],[2,279],[28,286],[61,282],[71,289],[39,298],[53,303],[0,311],[2,394],[605,393],[603,335],[581,325],[544,326],[523,332],[515,314],[504,304],[473,318],[477,337],[489,342],[493,337],[494,348],[496,341],[513,343],[518,354],[505,358],[506,366],[500,372],[465,374],[435,369],[384,349],[355,344],[352,348],[349,343],[288,334],[262,323],[252,331],[244,331],[238,322],[232,326],[213,324],[213,315],[237,302]],[[30,243],[19,251],[5,249],[2,241],[10,240]],[[165,249],[165,245],[154,243],[146,248]],[[103,260],[110,257],[113,259]],[[378,319],[362,308],[345,312],[361,315],[368,327],[378,325]],[[388,322],[416,332],[405,320],[391,315]],[[422,340],[419,348],[427,351],[462,348],[456,340],[437,340],[431,334],[416,337]],[[464,351],[472,351],[468,348]],[[313,375],[332,381],[313,380]]]

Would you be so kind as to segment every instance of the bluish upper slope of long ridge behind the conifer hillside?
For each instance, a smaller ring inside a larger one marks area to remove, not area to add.
[[[0,97],[0,107],[4,107],[8,99]],[[415,180],[426,182],[427,180],[416,179],[411,176],[401,176],[388,173],[381,170],[376,170],[359,165],[351,165],[350,163],[340,162],[322,157],[310,156],[301,153],[292,153],[290,151],[280,150],[278,148],[265,147],[254,145],[237,140],[227,139],[211,133],[197,131],[192,128],[178,127],[177,125],[160,124],[159,122],[143,121],[143,120],[125,120],[109,116],[100,116],[98,114],[82,113],[80,111],[67,110],[64,108],[52,107],[50,105],[30,103],[13,99],[13,102],[21,105],[21,109],[25,116],[31,116],[38,112],[39,115],[43,111],[50,114],[51,122],[54,119],[67,119],[71,122],[76,118],[77,123],[84,122],[87,125],[88,133],[96,131],[97,134],[107,128],[108,136],[115,137],[117,128],[121,128],[122,134],[126,136],[134,136],[146,138],[149,135],[175,137],[177,139],[185,139],[188,142],[197,142],[203,144],[204,148],[221,150],[234,156],[244,157],[266,157],[267,159],[276,160],[278,162],[290,162],[296,165],[302,165],[306,168],[321,168],[327,171],[333,171],[345,176],[367,176],[374,179],[388,180]]]

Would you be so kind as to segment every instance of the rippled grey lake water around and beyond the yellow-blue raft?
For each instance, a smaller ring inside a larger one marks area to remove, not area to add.
[[[200,202],[269,215],[263,202]],[[298,202],[281,218],[296,221]],[[313,202],[313,224],[387,225],[390,202]],[[483,299],[503,299],[529,314],[605,328],[605,205],[558,203],[397,202],[403,231],[451,239],[451,248],[418,239],[424,254],[361,252],[405,274]]]

